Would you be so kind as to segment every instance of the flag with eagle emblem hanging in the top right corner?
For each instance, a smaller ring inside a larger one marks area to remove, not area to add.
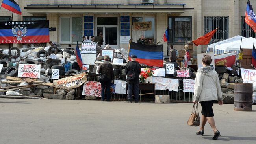
[[[252,8],[250,0],[247,1],[246,11],[245,11],[245,22],[256,32],[256,16]]]

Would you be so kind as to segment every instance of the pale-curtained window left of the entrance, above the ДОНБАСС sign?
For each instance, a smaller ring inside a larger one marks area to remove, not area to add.
[[[60,43],[70,44],[82,41],[83,18],[60,17]]]

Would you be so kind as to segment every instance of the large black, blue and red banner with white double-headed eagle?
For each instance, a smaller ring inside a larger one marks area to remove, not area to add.
[[[49,42],[49,20],[0,22],[0,44]]]

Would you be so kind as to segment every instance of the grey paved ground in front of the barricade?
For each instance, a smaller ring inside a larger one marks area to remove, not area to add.
[[[221,132],[187,126],[192,104],[0,99],[0,144],[256,144],[253,112],[214,104]]]

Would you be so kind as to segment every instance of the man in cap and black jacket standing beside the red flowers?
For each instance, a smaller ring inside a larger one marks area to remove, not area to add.
[[[126,64],[125,73],[128,84],[128,103],[132,103],[132,91],[135,95],[135,103],[139,103],[139,74],[141,65],[136,61],[137,56],[132,55],[131,61]]]

